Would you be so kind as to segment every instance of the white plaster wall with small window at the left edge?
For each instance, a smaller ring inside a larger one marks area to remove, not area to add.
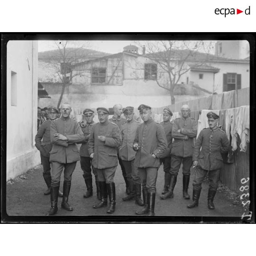
[[[38,55],[36,41],[7,45],[7,179],[40,163],[34,146],[37,132]],[[17,106],[11,106],[11,71],[17,73]]]

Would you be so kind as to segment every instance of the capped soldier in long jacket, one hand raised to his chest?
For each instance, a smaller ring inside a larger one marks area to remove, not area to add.
[[[122,138],[117,124],[108,120],[109,111],[98,107],[97,112],[100,122],[94,125],[88,141],[89,156],[98,175],[101,195],[100,203],[93,208],[106,207],[109,195],[110,207],[107,213],[113,213],[116,205],[113,179],[117,169],[117,147],[121,146]]]

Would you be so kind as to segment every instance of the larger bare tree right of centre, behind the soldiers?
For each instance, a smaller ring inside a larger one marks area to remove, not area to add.
[[[145,56],[157,64],[154,79],[158,86],[169,92],[172,104],[175,103],[174,87],[180,78],[191,68],[200,67],[212,58],[212,42],[159,40],[140,41],[137,45],[145,47]],[[154,72],[152,66],[145,72]]]

